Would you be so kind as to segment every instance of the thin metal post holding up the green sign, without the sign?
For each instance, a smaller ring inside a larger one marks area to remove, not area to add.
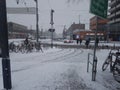
[[[98,29],[98,16],[96,16],[96,30],[95,30],[95,44],[94,44],[94,52],[93,52],[93,67],[92,67],[92,76],[96,73],[96,39],[97,39],[97,29]],[[95,81],[96,76],[92,77],[92,81]]]

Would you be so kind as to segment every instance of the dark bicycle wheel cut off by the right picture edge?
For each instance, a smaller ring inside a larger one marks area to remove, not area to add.
[[[113,69],[113,77],[114,79],[120,83],[120,65],[116,64]]]

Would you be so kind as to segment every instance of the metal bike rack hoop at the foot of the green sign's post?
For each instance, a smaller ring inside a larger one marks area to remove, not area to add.
[[[96,80],[96,72],[97,72],[97,57],[95,56],[95,60],[93,60],[93,62],[91,62],[90,56],[93,56],[93,54],[88,53],[87,72],[89,72],[89,64],[91,64],[92,65],[92,81],[95,81]]]

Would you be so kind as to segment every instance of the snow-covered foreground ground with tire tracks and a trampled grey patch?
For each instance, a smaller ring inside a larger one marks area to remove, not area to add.
[[[10,53],[12,90],[120,90],[120,83],[109,69],[101,70],[108,52],[96,51],[96,81],[91,81],[91,66],[87,73],[87,56],[93,53],[90,49],[47,48],[43,53]],[[0,62],[0,90],[3,90],[1,65]]]

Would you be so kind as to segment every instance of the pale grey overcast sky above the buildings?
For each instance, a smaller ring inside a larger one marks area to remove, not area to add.
[[[16,0],[6,0],[7,7],[35,7],[34,0],[20,0],[17,5]],[[24,4],[26,2],[26,5]],[[55,10],[54,13],[54,28],[57,33],[63,31],[64,25],[68,28],[73,22],[80,22],[89,27],[89,19],[92,14],[89,13],[90,0],[38,0],[39,2],[39,28],[50,28],[50,10]],[[8,21],[13,21],[19,24],[28,26],[28,28],[35,29],[36,16],[35,15],[19,15],[8,14]]]

